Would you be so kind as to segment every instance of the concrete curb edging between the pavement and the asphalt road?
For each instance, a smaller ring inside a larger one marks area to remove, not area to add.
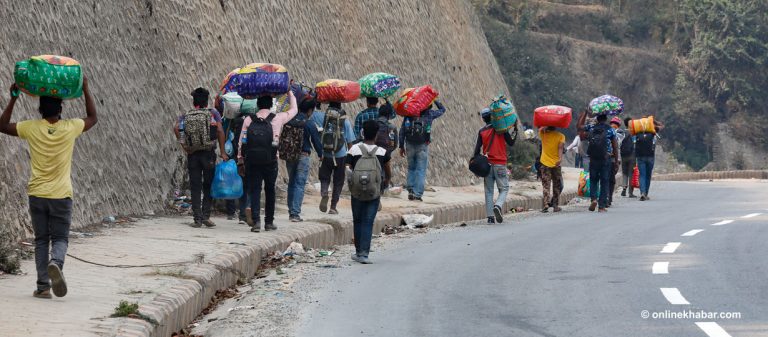
[[[576,197],[576,191],[567,191],[560,197],[561,204],[567,204]],[[542,197],[509,195],[505,210],[515,207],[538,209]],[[448,205],[430,205],[405,213],[382,214],[376,217],[374,233],[381,233],[385,226],[399,226],[403,214],[434,215],[430,225],[445,225],[462,221],[485,219],[485,202],[473,201]],[[237,283],[240,277],[250,278],[257,272],[261,259],[271,252],[282,251],[291,242],[298,241],[305,247],[323,248],[352,241],[352,221],[328,224],[306,223],[300,228],[281,229],[274,238],[255,246],[232,248],[187,270],[190,280],[158,294],[150,303],[143,304],[139,311],[153,318],[158,325],[149,322],[120,318],[109,330],[115,336],[143,337],[170,336],[185,328],[210,303],[217,290]]]

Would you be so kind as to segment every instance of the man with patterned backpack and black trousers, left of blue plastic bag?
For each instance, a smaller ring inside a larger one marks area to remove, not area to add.
[[[211,183],[216,165],[216,145],[221,159],[229,160],[224,150],[224,129],[221,115],[216,109],[208,108],[210,94],[204,88],[192,91],[193,109],[181,114],[174,125],[179,144],[187,153],[189,186],[192,192],[192,227],[216,226],[211,221]],[[202,196],[202,197],[201,197]]]

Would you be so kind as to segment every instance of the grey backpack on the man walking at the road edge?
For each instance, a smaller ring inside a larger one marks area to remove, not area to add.
[[[349,179],[349,192],[358,200],[376,200],[381,196],[381,164],[376,157],[379,147],[368,151],[365,145],[358,146],[362,156],[357,160],[352,177]]]

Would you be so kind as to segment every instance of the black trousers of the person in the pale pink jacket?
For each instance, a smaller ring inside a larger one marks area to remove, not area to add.
[[[251,214],[253,221],[259,221],[261,211],[261,186],[264,185],[264,223],[275,221],[275,182],[277,182],[277,160],[270,164],[257,165],[245,159],[245,176],[248,178],[248,190],[251,195]]]

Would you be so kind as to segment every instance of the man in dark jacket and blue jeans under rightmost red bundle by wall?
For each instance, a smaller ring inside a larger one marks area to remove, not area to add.
[[[429,167],[429,143],[432,141],[432,123],[445,114],[445,107],[435,101],[419,117],[405,117],[400,127],[400,156],[408,159],[408,200],[423,201],[424,183]]]

